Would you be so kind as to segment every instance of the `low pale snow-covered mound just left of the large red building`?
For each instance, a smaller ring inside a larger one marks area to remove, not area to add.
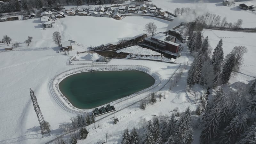
[[[132,54],[140,54],[140,55],[162,55],[161,53],[149,50],[147,48],[140,47],[138,45],[123,48],[116,51],[117,53],[125,52],[125,53],[132,53]]]

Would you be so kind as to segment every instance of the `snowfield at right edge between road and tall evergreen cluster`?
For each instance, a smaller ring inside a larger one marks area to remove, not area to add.
[[[224,56],[231,52],[235,46],[245,46],[248,49],[248,52],[244,54],[244,64],[240,67],[240,72],[250,76],[256,76],[256,33],[204,30],[203,36],[204,38],[206,36],[209,37],[210,46],[212,47],[212,49],[216,47],[216,45],[222,38]]]

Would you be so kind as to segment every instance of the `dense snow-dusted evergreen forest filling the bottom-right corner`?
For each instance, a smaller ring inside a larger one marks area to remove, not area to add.
[[[200,143],[256,143],[256,80],[248,85],[243,92],[218,88],[202,116]]]

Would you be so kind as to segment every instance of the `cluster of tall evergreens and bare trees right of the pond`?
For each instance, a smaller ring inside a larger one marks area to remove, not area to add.
[[[187,84],[192,86],[197,83],[210,88],[228,83],[231,73],[239,71],[239,66],[243,64],[247,48],[236,46],[224,59],[222,39],[212,53],[208,36],[202,40],[201,31],[190,35],[188,47],[190,52],[195,53],[195,60],[188,71]]]

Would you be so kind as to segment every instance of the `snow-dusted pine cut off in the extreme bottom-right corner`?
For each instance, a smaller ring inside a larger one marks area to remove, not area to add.
[[[238,143],[248,144],[250,142],[253,142],[253,140],[255,139],[255,134],[256,134],[256,123],[253,123],[253,125],[249,127],[246,132],[244,132],[242,136],[243,139],[240,140]],[[255,144],[255,143],[252,143],[252,144]]]

